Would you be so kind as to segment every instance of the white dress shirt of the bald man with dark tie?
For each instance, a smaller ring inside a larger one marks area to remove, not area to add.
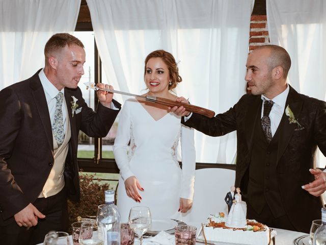
[[[270,110],[269,113],[269,118],[270,118],[270,130],[271,130],[271,135],[274,136],[277,128],[280,125],[283,113],[284,113],[284,109],[285,109],[285,103],[286,103],[286,98],[287,95],[289,94],[289,86],[287,86],[287,88],[280,93],[279,95],[277,95],[276,97],[273,98],[273,102],[274,105]],[[261,95],[261,99],[263,100],[263,102],[265,100],[269,101],[269,99],[265,96],[265,95]],[[261,107],[261,117],[263,117],[264,114],[264,103],[262,103],[262,107]]]

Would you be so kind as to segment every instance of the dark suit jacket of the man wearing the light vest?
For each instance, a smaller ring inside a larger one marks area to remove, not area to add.
[[[12,222],[15,213],[33,204],[54,162],[50,116],[38,73],[0,91],[0,225]],[[79,88],[65,88],[64,94],[71,127],[65,189],[71,200],[78,201],[78,132],[82,130],[90,137],[106,136],[119,110],[99,103],[94,112]],[[82,108],[73,116],[71,96],[78,99],[78,108]]]

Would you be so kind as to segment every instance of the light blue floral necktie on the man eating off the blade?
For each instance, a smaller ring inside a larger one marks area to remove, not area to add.
[[[63,143],[65,137],[65,130],[63,127],[63,117],[62,117],[62,102],[63,102],[63,93],[59,92],[56,96],[57,104],[55,111],[55,119],[53,120],[52,131],[55,139],[57,140],[58,145],[60,146]]]

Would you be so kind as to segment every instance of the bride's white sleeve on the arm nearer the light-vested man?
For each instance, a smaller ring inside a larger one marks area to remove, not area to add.
[[[121,109],[117,136],[113,146],[114,157],[120,169],[120,175],[124,181],[130,176],[133,176],[128,159],[128,144],[131,135],[131,118],[128,104],[128,101],[125,101],[124,106]]]

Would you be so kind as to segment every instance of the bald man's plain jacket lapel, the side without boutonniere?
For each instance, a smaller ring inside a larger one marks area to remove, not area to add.
[[[257,96],[253,101],[252,105],[248,105],[248,112],[246,114],[246,138],[248,144],[248,150],[251,154],[253,139],[254,139],[254,129],[257,123],[257,116],[260,118],[262,100],[260,96]]]

